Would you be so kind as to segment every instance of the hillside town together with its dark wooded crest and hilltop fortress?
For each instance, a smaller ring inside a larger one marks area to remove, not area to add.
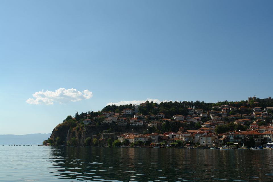
[[[70,127],[71,132],[103,126],[105,129],[94,133],[91,140],[96,138],[100,142],[110,138],[111,142],[116,140],[124,146],[210,147],[229,144],[253,147],[271,145],[272,113],[271,97],[218,102],[216,105],[199,101],[160,104],[146,101],[138,105],[106,106],[98,112],[76,113],[63,123],[75,121],[73,127],[76,129]],[[109,145],[101,143],[100,146]]]

